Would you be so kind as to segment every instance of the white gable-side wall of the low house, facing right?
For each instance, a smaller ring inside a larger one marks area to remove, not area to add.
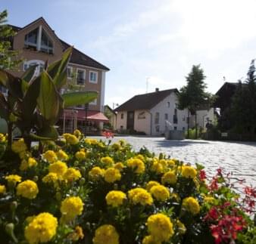
[[[167,106],[167,103],[170,103],[170,107]],[[150,110],[152,114],[152,124],[151,124],[151,131],[152,135],[161,135],[164,134],[166,130],[166,122],[164,119],[164,114],[168,114],[168,121],[175,127],[176,130],[182,131],[186,130],[186,117],[187,117],[187,110],[177,110],[177,124],[173,124],[173,115],[174,110],[176,108],[176,104],[178,104],[178,100],[175,93],[171,93],[168,97],[165,97],[160,103],[158,103],[155,107]],[[155,124],[155,114],[159,113],[159,123]],[[159,126],[159,131],[156,130],[156,126]]]

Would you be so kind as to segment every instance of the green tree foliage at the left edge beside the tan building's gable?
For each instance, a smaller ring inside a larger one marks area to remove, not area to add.
[[[11,39],[15,35],[14,30],[7,23],[8,12],[0,12],[0,67],[2,69],[14,69],[21,62],[17,60],[17,51],[11,50]]]

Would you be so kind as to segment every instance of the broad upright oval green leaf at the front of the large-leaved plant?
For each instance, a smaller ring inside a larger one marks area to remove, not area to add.
[[[60,108],[60,96],[52,82],[51,77],[43,71],[41,73],[40,91],[37,99],[39,112],[44,117],[48,125],[54,125],[58,120]]]

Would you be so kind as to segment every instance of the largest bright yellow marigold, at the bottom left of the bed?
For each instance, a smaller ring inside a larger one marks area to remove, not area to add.
[[[25,237],[29,244],[49,242],[55,236],[57,227],[57,218],[47,212],[41,213],[25,227]]]

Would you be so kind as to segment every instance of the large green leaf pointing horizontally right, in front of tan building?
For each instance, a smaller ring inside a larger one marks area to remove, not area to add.
[[[89,103],[98,97],[98,92],[96,91],[77,91],[70,92],[61,95],[64,100],[64,107],[73,107],[77,105],[83,105]]]

